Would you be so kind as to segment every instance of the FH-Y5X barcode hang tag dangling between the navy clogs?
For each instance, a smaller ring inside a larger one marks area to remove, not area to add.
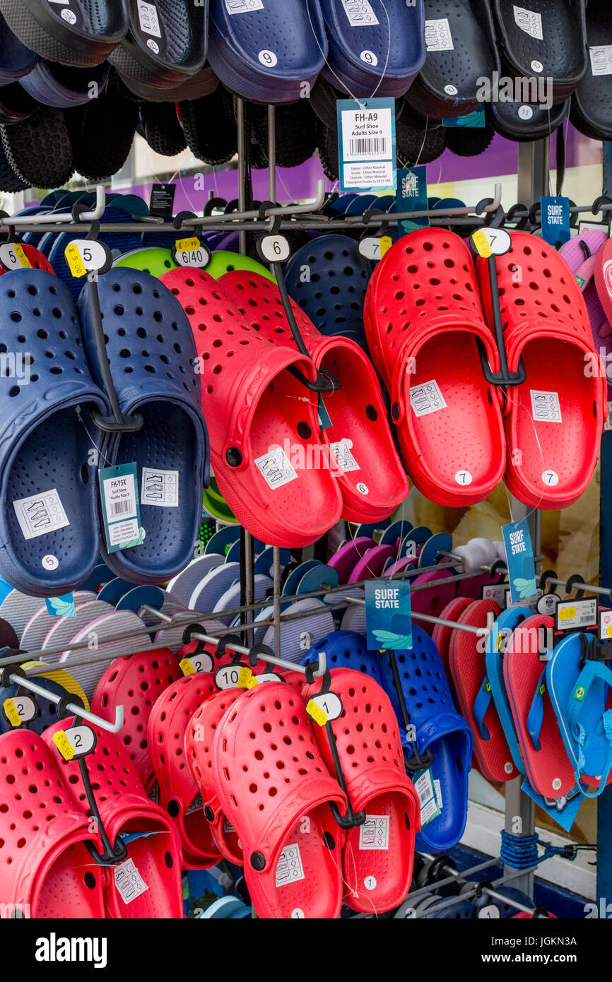
[[[137,495],[137,464],[102,467],[99,478],[104,536],[109,553],[140,545],[143,529]]]

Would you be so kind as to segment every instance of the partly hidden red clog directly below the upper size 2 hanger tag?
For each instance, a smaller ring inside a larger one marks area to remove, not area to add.
[[[176,822],[181,837],[182,869],[205,869],[220,859],[185,747],[198,706],[217,692],[211,673],[179,679],[158,697],[146,728],[159,803]]]

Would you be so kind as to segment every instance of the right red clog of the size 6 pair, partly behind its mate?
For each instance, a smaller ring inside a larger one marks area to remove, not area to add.
[[[259,334],[297,351],[275,283],[257,273],[235,271],[222,276],[219,285]],[[321,334],[297,303],[292,300],[291,305],[315,367],[340,382],[337,392],[324,397],[332,425],[322,433],[341,468],[342,518],[359,522],[388,518],[410,488],[372,364],[354,341]]]

